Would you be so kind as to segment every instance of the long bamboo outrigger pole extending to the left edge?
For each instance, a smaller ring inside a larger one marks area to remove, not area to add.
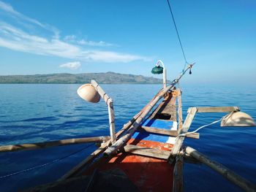
[[[20,145],[4,145],[0,146],[0,152],[10,152],[15,150],[34,150],[46,147],[57,147],[62,145],[75,145],[86,142],[102,142],[110,139],[110,137],[87,137],[87,138],[75,138],[75,139],[63,139],[59,141],[52,142],[37,142],[37,143],[27,143]]]

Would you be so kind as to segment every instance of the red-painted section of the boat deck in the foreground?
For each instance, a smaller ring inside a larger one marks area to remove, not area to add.
[[[161,142],[129,139],[128,144],[140,147],[151,147],[159,150],[171,150],[173,145]],[[173,190],[173,165],[166,160],[150,158],[130,153],[118,153],[113,158],[102,158],[95,165],[97,169],[121,169],[139,191],[172,191]],[[93,167],[91,170],[93,170]],[[91,174],[91,171],[85,174]]]

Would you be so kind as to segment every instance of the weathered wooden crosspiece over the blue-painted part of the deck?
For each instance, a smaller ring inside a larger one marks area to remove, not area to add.
[[[140,126],[140,130],[146,131],[148,133],[152,134],[162,134],[162,135],[168,135],[168,136],[173,136],[177,137],[178,136],[178,131],[173,131],[173,130],[168,130],[165,128],[154,128],[154,127],[148,127],[148,126]],[[185,135],[185,137],[193,138],[193,139],[199,139],[198,133],[191,133]]]

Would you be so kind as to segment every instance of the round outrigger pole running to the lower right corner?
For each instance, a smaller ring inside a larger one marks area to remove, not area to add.
[[[203,155],[192,147],[186,147],[185,151],[193,158],[196,158],[198,161],[211,167],[211,169],[214,169],[214,171],[222,174],[223,177],[225,177],[227,180],[230,180],[230,182],[238,185],[238,187],[244,189],[244,191],[256,191],[256,186],[253,183],[245,180],[243,177],[239,176],[222,164],[219,164],[217,161],[212,161],[206,155]]]

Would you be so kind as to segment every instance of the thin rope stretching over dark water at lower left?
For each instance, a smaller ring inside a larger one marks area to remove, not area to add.
[[[28,169],[23,169],[23,170],[18,171],[18,172],[13,172],[13,173],[10,173],[10,174],[6,174],[6,175],[3,175],[3,176],[0,176],[0,179],[4,179],[4,178],[6,178],[6,177],[11,177],[11,176],[13,176],[13,175],[15,175],[15,174],[20,174],[20,173],[24,173],[24,172],[29,172],[29,171],[31,171],[31,170],[33,170],[33,169],[39,169],[39,168],[44,167],[44,166],[48,166],[48,165],[50,165],[50,164],[56,163],[56,162],[58,162],[58,161],[61,161],[61,160],[64,159],[64,158],[68,158],[69,156],[75,155],[76,153],[79,153],[80,151],[85,150],[85,149],[87,149],[88,147],[91,147],[92,145],[94,145],[94,143],[92,143],[91,145],[88,145],[88,146],[86,146],[86,147],[83,147],[82,149],[77,150],[77,151],[75,151],[75,152],[73,152],[73,153],[70,153],[70,154],[68,154],[68,155],[65,155],[64,157],[57,158],[57,159],[55,159],[55,160],[53,160],[53,161],[50,161],[50,162],[48,162],[48,163],[41,164],[41,165],[37,165],[37,166],[32,166],[32,167],[30,167],[30,168],[28,168]]]

